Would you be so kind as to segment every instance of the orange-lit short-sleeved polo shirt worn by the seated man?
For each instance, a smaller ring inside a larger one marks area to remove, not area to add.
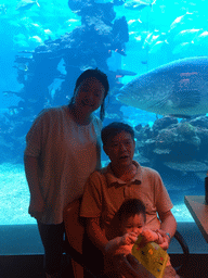
[[[93,172],[84,186],[80,216],[100,217],[108,240],[114,238],[114,216],[126,199],[138,198],[143,201],[146,206],[146,227],[153,230],[160,228],[157,213],[166,213],[173,206],[160,175],[135,161],[133,163],[138,172],[128,182],[116,178],[109,164]]]

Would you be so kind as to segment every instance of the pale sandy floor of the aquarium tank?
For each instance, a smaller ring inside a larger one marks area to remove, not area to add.
[[[29,190],[22,164],[4,163],[0,165],[1,206],[0,225],[36,224],[29,216]],[[178,189],[176,189],[178,190]],[[172,213],[178,222],[193,222],[183,203],[173,203]]]

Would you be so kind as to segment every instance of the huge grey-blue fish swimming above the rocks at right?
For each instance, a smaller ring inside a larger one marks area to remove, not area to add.
[[[208,113],[208,56],[181,59],[125,85],[117,99],[160,115],[190,117]]]

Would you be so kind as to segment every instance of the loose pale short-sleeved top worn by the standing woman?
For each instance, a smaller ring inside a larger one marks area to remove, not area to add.
[[[83,193],[89,175],[100,165],[102,122],[75,123],[68,108],[43,110],[26,136],[25,155],[39,159],[40,190],[46,208],[40,222],[60,224],[64,207]]]

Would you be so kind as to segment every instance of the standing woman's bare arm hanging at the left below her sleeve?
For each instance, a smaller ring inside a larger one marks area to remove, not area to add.
[[[26,179],[30,191],[29,214],[39,219],[42,215],[44,203],[39,186],[40,169],[38,165],[38,157],[25,155],[24,164]]]

